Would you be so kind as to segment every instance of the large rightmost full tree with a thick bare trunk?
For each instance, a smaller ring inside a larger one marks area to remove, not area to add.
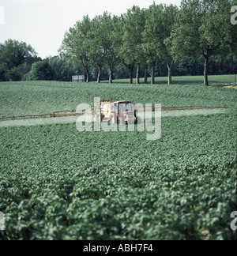
[[[204,85],[209,85],[209,59],[212,55],[227,55],[236,45],[226,32],[232,31],[229,0],[182,0],[174,33],[171,36],[172,55],[176,60],[202,55]],[[227,43],[227,37],[229,44]]]

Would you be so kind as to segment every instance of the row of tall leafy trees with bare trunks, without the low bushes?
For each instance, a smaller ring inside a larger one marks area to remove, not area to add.
[[[168,84],[175,62],[202,56],[204,85],[209,85],[209,59],[213,55],[237,55],[236,26],[231,24],[231,7],[236,0],[182,0],[177,6],[156,5],[149,9],[134,6],[120,17],[103,13],[85,16],[66,32],[59,53],[63,58],[81,63],[90,81],[92,66],[97,66],[100,83],[103,66],[113,71],[118,63],[126,66],[133,83],[140,82],[140,68],[149,67],[155,82],[156,62],[167,66]]]

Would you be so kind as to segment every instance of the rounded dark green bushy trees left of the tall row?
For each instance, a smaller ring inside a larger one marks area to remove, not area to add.
[[[0,43],[0,81],[71,81],[77,72],[79,65],[58,56],[42,59],[27,43],[17,40]]]

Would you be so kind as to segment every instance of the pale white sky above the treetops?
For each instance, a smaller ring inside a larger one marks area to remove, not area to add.
[[[149,8],[154,0],[0,0],[0,43],[13,39],[32,45],[41,58],[58,55],[64,33],[84,15],[120,15],[132,6]],[[156,0],[175,4],[181,0]]]

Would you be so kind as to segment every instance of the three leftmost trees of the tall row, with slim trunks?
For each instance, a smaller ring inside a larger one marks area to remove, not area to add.
[[[101,72],[104,65],[109,68],[112,81],[112,71],[118,62],[115,50],[120,41],[118,28],[119,18],[111,17],[107,12],[92,20],[85,16],[66,32],[59,53],[62,57],[81,64],[87,74],[87,82],[90,80],[90,68],[97,66]],[[100,81],[100,77],[98,78]]]

